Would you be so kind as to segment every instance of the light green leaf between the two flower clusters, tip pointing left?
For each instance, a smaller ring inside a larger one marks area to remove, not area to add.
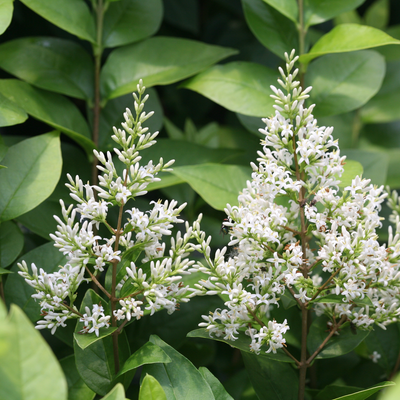
[[[174,168],[172,174],[187,182],[211,207],[223,210],[237,205],[250,168],[241,165],[201,164]]]

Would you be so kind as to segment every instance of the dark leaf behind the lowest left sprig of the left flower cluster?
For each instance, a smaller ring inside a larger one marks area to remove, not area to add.
[[[24,254],[17,261],[25,260],[31,271],[31,263],[34,263],[37,268],[42,268],[45,272],[51,273],[59,269],[60,265],[66,262],[65,256],[54,247],[54,243],[47,243],[36,247],[34,250]],[[7,303],[14,303],[21,307],[24,313],[32,322],[40,319],[40,304],[31,296],[36,293],[36,290],[28,285],[25,280],[18,274],[19,268],[17,263],[11,268],[14,273],[7,278],[4,287],[4,294]]]

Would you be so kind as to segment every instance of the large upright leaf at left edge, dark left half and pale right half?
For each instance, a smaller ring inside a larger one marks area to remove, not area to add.
[[[50,196],[61,174],[60,135],[50,132],[8,149],[0,170],[0,221],[18,217]]]

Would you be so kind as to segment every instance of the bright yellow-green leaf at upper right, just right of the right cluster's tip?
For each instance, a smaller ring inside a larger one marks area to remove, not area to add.
[[[388,44],[398,45],[400,40],[370,26],[341,24],[322,36],[307,54],[300,56],[300,62],[307,65],[314,58],[324,54],[346,53]]]

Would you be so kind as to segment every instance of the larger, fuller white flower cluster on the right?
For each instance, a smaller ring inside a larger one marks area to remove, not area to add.
[[[381,245],[378,212],[387,194],[358,176],[340,191],[345,157],[333,128],[318,127],[314,105],[304,106],[311,88],[303,90],[298,70],[291,72],[298,57],[285,56],[278,82],[286,94],[271,86],[277,105],[275,115],[263,119],[258,165],[252,164],[239,205],[225,209],[235,253],[225,257],[224,248],[212,258],[203,242],[205,264],[194,267],[209,275],[194,295],[229,297],[226,309],[203,316],[200,326],[229,340],[244,331],[256,353],[264,344],[266,352],[285,345],[286,320],[268,318],[283,295],[363,329],[384,328],[400,314],[399,217],[389,243]]]

